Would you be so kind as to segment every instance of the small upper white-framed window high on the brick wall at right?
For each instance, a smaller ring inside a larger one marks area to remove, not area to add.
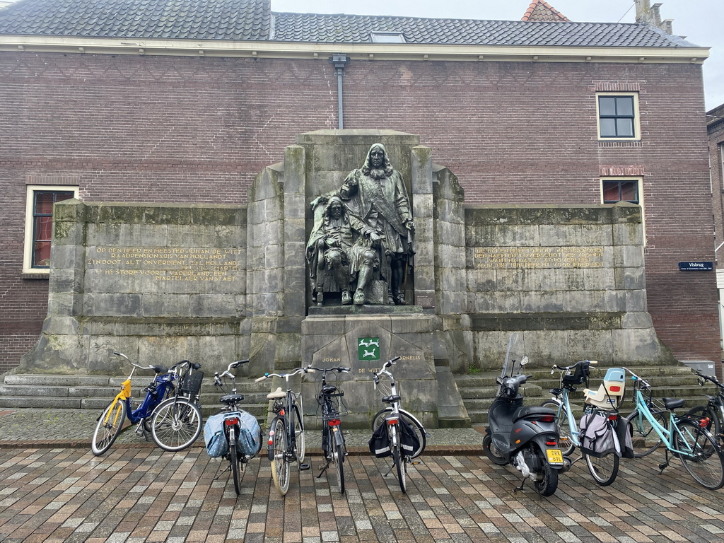
[[[639,93],[596,93],[598,137],[640,140]]]

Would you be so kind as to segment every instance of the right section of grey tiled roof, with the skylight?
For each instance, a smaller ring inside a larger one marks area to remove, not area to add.
[[[274,13],[274,41],[369,42],[371,32],[400,32],[407,43],[487,46],[693,47],[649,25],[525,22]]]

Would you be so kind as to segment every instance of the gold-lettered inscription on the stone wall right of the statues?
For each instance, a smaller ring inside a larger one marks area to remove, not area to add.
[[[479,269],[602,268],[602,247],[476,247]]]

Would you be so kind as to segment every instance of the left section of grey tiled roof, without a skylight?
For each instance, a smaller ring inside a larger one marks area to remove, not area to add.
[[[0,34],[266,40],[269,0],[19,0]]]

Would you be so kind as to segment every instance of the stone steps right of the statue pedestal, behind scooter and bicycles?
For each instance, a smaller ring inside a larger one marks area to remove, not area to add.
[[[606,369],[606,367],[592,368],[590,388],[598,388]],[[684,407],[687,409],[705,403],[704,393],[712,394],[711,387],[700,387],[696,381],[696,375],[684,365],[635,367],[632,365],[630,369],[651,384],[653,397],[683,398],[686,400]],[[525,397],[524,405],[540,405],[544,400],[552,397],[549,392],[552,388],[560,387],[559,371],[551,375],[550,369],[526,366],[526,374],[532,375],[532,377],[521,387],[521,394]],[[497,393],[495,384],[497,376],[500,376],[500,371],[480,371],[474,374],[455,375],[455,383],[458,385],[473,426],[487,424],[488,408]],[[629,384],[630,381],[627,380],[626,386],[628,387]],[[579,387],[578,391],[569,396],[576,418],[580,417],[583,411],[583,389],[584,387]],[[626,401],[621,412],[630,413],[632,409],[631,391],[627,390]]]

